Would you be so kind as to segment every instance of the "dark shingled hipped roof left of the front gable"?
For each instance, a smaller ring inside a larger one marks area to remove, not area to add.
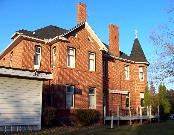
[[[63,29],[63,28],[60,28],[57,26],[53,26],[53,25],[49,25],[49,26],[46,26],[46,27],[43,27],[41,29],[37,29],[34,31],[19,30],[17,32],[22,33],[26,36],[34,37],[34,38],[50,39],[50,38],[59,36],[67,31],[68,30],[66,30],[66,29]]]

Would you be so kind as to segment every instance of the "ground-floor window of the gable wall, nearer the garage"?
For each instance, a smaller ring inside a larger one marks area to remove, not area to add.
[[[74,107],[74,86],[66,87],[66,108],[71,109]]]

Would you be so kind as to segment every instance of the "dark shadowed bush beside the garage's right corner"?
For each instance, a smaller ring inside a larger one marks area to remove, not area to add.
[[[45,126],[53,126],[56,121],[57,109],[54,107],[46,107],[42,113],[42,121]]]

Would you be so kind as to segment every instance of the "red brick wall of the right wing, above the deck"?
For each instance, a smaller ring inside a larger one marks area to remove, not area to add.
[[[124,78],[124,65],[129,65],[129,80]],[[144,81],[139,80],[139,67],[143,66]],[[145,64],[126,63],[119,60],[108,62],[108,89],[109,89],[109,110],[115,111],[117,105],[125,108],[119,94],[111,94],[111,90],[126,90],[130,92],[131,107],[135,110],[140,105],[140,92],[144,92],[147,85],[147,66]],[[119,99],[120,97],[120,99]]]

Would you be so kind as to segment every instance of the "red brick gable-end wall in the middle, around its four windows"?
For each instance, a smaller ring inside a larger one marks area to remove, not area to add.
[[[92,39],[89,41],[90,34],[86,29],[81,29],[77,33],[77,37],[69,36],[68,42],[57,42],[53,47],[56,47],[56,66],[53,68],[52,85],[55,96],[54,105],[58,109],[65,109],[66,104],[66,87],[65,85],[74,85],[79,94],[75,94],[74,109],[88,108],[88,89],[89,87],[96,88],[96,109],[102,113],[103,110],[103,87],[102,87],[102,52],[99,50],[99,45]],[[67,67],[67,48],[73,47],[76,49],[76,65],[75,68]],[[89,52],[96,53],[96,71],[88,70],[88,54]],[[55,92],[56,93],[56,92]]]

